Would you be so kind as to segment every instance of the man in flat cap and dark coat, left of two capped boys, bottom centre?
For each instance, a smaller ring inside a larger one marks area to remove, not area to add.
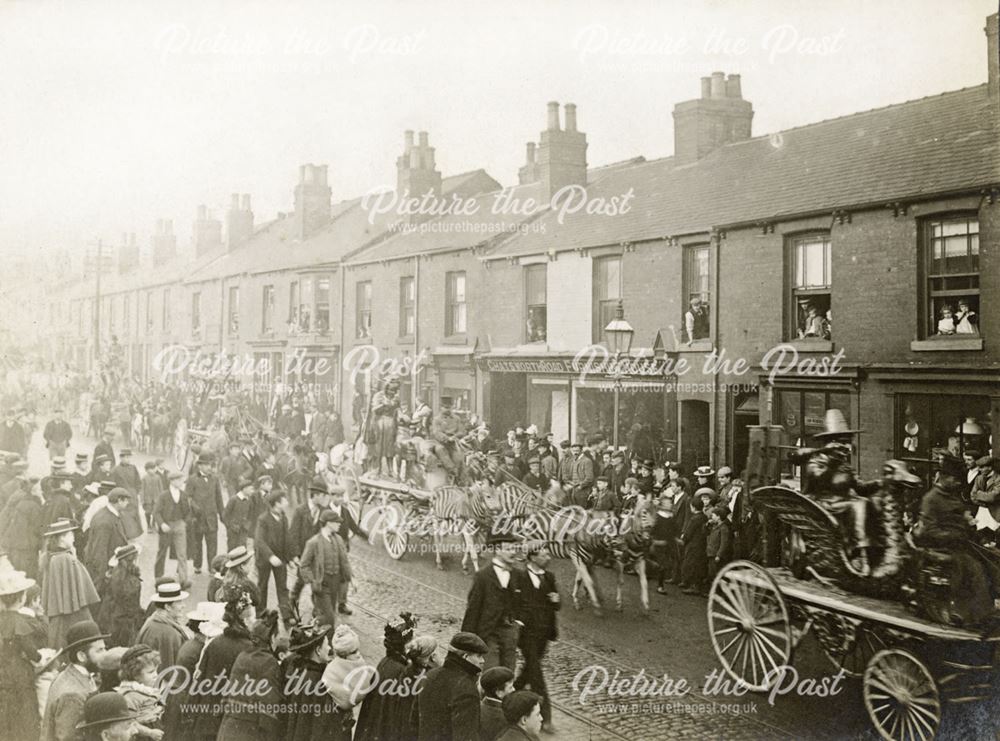
[[[486,643],[475,633],[456,633],[444,663],[432,669],[417,696],[419,741],[473,741],[479,738],[477,679]]]

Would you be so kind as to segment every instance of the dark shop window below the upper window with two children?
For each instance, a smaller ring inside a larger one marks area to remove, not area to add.
[[[935,450],[989,453],[989,397],[901,394],[896,402],[897,458],[926,459]]]

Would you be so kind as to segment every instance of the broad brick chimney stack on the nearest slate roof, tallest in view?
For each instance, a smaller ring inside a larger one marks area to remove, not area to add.
[[[701,97],[674,106],[674,158],[695,162],[719,147],[750,138],[753,106],[743,100],[740,76],[701,78]],[[706,94],[707,93],[707,94]]]

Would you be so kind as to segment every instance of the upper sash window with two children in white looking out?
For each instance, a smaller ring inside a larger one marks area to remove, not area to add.
[[[979,336],[979,222],[928,221],[924,230],[924,336]]]

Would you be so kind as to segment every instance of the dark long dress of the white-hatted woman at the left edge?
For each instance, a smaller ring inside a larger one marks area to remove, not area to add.
[[[41,726],[35,671],[38,650],[45,645],[45,627],[24,613],[0,611],[0,718],[4,739],[37,741]]]

